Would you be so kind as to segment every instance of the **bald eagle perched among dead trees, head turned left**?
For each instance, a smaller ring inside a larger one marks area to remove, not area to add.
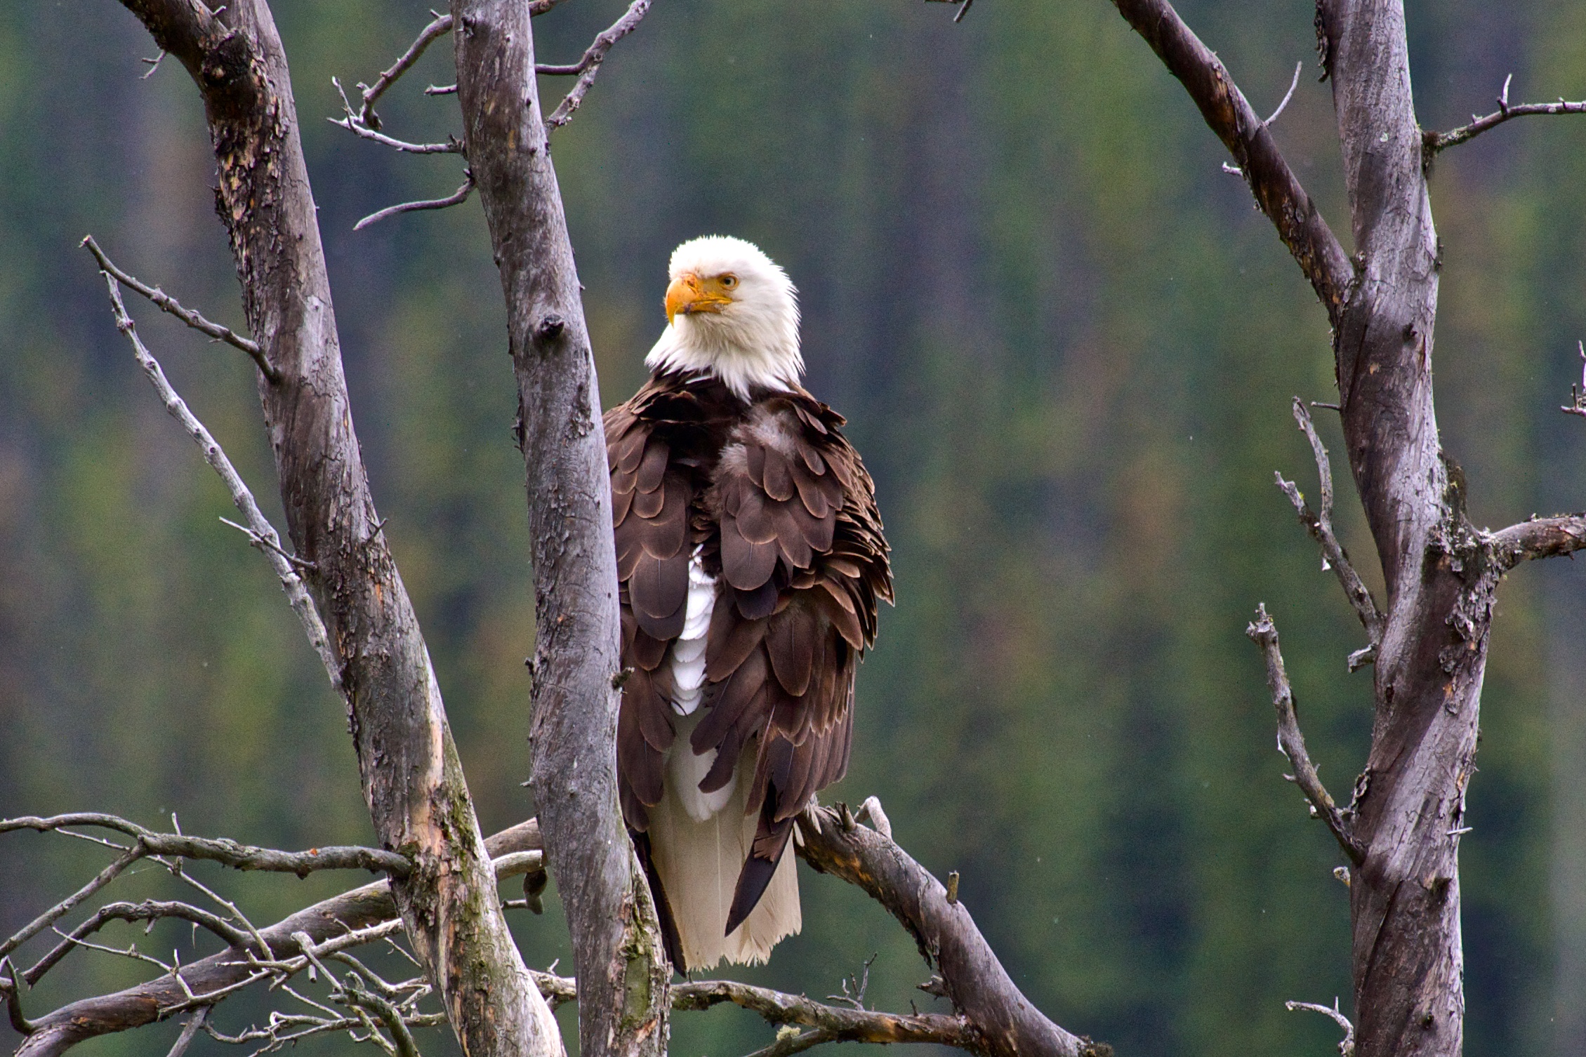
[[[793,819],[842,778],[891,601],[875,491],[803,385],[796,290],[755,246],[671,258],[650,380],[606,412],[622,810],[680,971],[799,930]]]

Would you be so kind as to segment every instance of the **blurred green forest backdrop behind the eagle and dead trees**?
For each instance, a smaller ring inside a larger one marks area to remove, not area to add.
[[[1407,6],[1426,127],[1492,109],[1508,73],[1516,100],[1586,95],[1580,3]],[[492,832],[533,810],[519,786],[533,602],[488,241],[477,203],[352,231],[460,181],[457,158],[396,155],[324,120],[339,114],[331,74],[373,79],[425,5],[274,10],[376,498]],[[536,19],[541,59],[576,59],[620,10],[577,0]],[[1258,111],[1305,60],[1275,132],[1348,244],[1312,5],[1180,10]],[[1266,601],[1312,753],[1347,792],[1370,729],[1370,674],[1343,666],[1362,639],[1272,485],[1277,469],[1315,491],[1289,398],[1335,393],[1326,319],[1110,3],[952,14],[660,0],[617,46],[554,139],[604,401],[642,377],[679,241],[741,235],[787,266],[809,385],[852,420],[898,574],[860,675],[853,767],[828,796],[879,794],[906,848],[963,873],[1025,992],[1120,1055],[1331,1054],[1332,1024],[1283,1000],[1348,1000],[1347,892],[1281,780],[1243,637]],[[176,62],[140,79],[154,54],[108,0],[0,6],[0,815],[163,827],[174,811],[187,832],[251,843],[368,841],[343,710],[265,563],[216,520],[232,513],[220,485],[152,398],[76,247],[94,233],[140,277],[241,323],[197,93]],[[455,98],[420,92],[449,65],[442,41],[381,106],[389,132],[458,128]],[[1478,525],[1586,506],[1583,425],[1557,412],[1586,336],[1583,176],[1573,117],[1515,122],[1437,163],[1439,414]],[[271,496],[252,364],[130,307]],[[1318,418],[1337,450],[1337,423]],[[1340,488],[1345,542],[1364,558]],[[1462,841],[1470,1054],[1586,1052],[1583,632],[1570,563],[1505,585]],[[103,860],[59,837],[0,840],[0,935]],[[273,921],[355,878],[220,881]],[[939,1005],[912,990],[925,970],[879,906],[807,872],[803,887],[804,933],[745,978],[818,997],[879,954],[872,1002]],[[514,922],[530,964],[568,970],[557,916]],[[79,954],[25,1003],[43,1013],[138,978]],[[265,1009],[238,1002],[219,1019]],[[84,1052],[163,1054],[174,1032]],[[688,1057],[769,1040],[736,1011],[674,1027]],[[14,1041],[0,1025],[0,1046]],[[425,1041],[449,1047],[444,1032]]]

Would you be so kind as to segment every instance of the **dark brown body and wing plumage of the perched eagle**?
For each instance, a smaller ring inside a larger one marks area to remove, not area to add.
[[[760,900],[793,818],[847,770],[855,670],[875,639],[877,599],[891,601],[874,487],[842,422],[803,388],[755,388],[745,401],[703,372],[663,372],[606,412],[633,670],[617,724],[622,808],[649,867],[644,834],[677,738],[666,661],[698,553],[717,594],[698,724],[677,748],[715,750],[699,791],[736,775],[749,781],[745,811],[758,816],[728,932]],[[653,868],[650,878],[666,914]],[[669,922],[668,933],[684,965]]]

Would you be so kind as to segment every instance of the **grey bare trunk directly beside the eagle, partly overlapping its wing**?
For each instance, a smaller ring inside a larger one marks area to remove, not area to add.
[[[568,911],[585,1057],[663,1054],[671,968],[617,805],[617,556],[600,390],[534,82],[530,8],[454,0],[468,166],[508,307],[536,643],[530,781]]]

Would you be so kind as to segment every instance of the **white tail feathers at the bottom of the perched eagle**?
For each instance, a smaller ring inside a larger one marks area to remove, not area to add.
[[[793,848],[782,854],[782,862],[777,864],[777,872],[771,876],[760,903],[733,935],[723,935],[737,873],[755,840],[757,819],[744,815],[749,783],[733,781],[728,789],[720,791],[730,792],[726,802],[704,821],[696,821],[696,815],[704,815],[698,810],[704,807],[701,802],[720,796],[707,797],[698,791],[696,783],[711,767],[714,756],[711,753],[695,756],[688,746],[688,734],[698,721],[698,715],[677,716],[672,721],[677,726],[677,740],[668,750],[666,792],[661,802],[650,808],[650,851],[677,925],[687,968],[711,968],[722,959],[753,965],[771,956],[777,940],[796,933],[804,924],[793,862],[796,856]],[[745,751],[737,767],[739,775],[753,773],[753,753]]]

